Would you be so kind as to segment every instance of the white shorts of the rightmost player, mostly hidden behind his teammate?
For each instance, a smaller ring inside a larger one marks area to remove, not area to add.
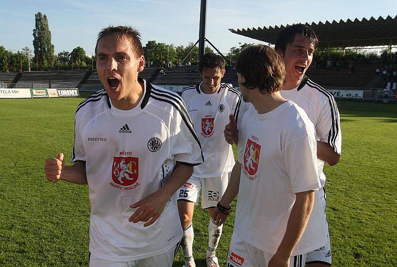
[[[332,255],[331,255],[331,242],[330,242],[330,233],[328,230],[328,221],[327,221],[327,216],[326,216],[326,191],[324,188],[321,188],[320,190],[316,191],[316,194],[318,194],[318,197],[320,197],[321,204],[323,206],[323,215],[324,215],[324,220],[327,222],[327,244],[321,248],[318,248],[315,251],[311,251],[307,253],[306,257],[306,265],[310,266],[310,264],[325,264],[331,266],[332,263]]]

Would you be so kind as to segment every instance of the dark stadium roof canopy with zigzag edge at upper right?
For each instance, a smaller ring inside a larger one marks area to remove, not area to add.
[[[319,38],[318,48],[379,46],[397,44],[397,16],[370,19],[326,21],[305,23],[311,26]],[[288,26],[288,24],[287,24]],[[274,44],[278,33],[286,26],[229,29],[232,33]]]

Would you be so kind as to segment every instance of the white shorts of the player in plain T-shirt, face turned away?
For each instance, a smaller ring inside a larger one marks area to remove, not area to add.
[[[267,267],[273,254],[260,250],[245,241],[233,232],[230,243],[227,267]],[[289,258],[289,267],[304,266],[306,254]]]

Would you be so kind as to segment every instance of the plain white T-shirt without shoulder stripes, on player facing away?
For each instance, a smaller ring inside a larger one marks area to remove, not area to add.
[[[234,231],[243,240],[275,254],[284,237],[295,193],[320,187],[315,128],[302,108],[287,101],[258,114],[244,113],[239,130],[241,163]],[[310,218],[320,218],[315,201]],[[306,229],[292,255],[313,251],[326,243],[325,220]]]

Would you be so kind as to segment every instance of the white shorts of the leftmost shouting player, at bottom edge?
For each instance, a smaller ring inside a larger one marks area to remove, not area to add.
[[[131,262],[111,262],[99,259],[98,257],[90,254],[90,267],[153,267],[153,266],[164,266],[172,267],[175,255],[178,252],[179,245],[178,242],[175,247],[172,247],[168,251],[155,255],[150,258],[131,261]]]

